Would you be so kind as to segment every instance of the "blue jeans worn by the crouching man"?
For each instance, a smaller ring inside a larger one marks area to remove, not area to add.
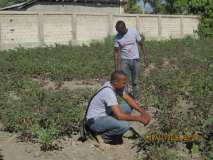
[[[121,110],[126,114],[131,114],[132,109],[126,102],[120,104]],[[110,139],[113,136],[122,136],[130,125],[127,121],[118,120],[113,115],[107,115],[99,117],[94,120],[93,124],[90,125],[90,129],[96,133],[102,134],[104,137]]]

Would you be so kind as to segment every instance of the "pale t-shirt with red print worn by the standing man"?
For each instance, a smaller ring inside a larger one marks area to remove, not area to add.
[[[120,49],[121,58],[123,59],[138,59],[139,50],[138,42],[142,40],[138,31],[134,28],[129,28],[125,35],[117,34],[115,36],[114,47]]]

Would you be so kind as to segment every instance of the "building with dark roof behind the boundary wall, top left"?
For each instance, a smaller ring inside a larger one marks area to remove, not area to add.
[[[122,0],[29,0],[1,8],[3,11],[123,13]]]

